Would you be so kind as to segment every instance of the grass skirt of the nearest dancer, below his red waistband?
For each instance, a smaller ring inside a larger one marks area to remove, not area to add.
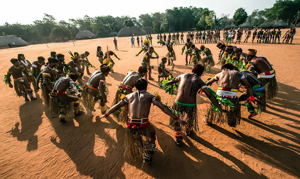
[[[144,147],[153,144],[151,134],[148,128],[129,129],[127,128],[125,135],[125,153],[131,159],[143,159]]]

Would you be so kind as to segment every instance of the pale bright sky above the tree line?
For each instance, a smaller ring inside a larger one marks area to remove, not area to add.
[[[96,4],[97,2],[98,4]],[[0,25],[3,25],[5,22],[9,24],[16,22],[32,24],[35,20],[41,20],[44,13],[54,16],[57,21],[68,21],[68,19],[82,18],[85,15],[90,17],[127,15],[138,19],[140,14],[164,12],[166,9],[181,6],[207,7],[209,10],[214,10],[217,17],[221,17],[223,13],[230,14],[229,17],[232,17],[235,10],[240,7],[245,8],[250,15],[255,9],[263,10],[272,7],[275,0],[114,0],[112,4],[109,4],[109,2],[91,0],[15,0],[12,4],[11,1],[4,0],[1,1]],[[16,5],[15,7],[13,7],[14,4]]]

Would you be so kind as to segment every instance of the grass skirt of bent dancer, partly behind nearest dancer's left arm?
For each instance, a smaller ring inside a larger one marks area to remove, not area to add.
[[[130,93],[128,93],[130,94]],[[121,101],[122,92],[118,89],[116,92],[115,99],[113,101],[113,106],[118,104]],[[124,94],[125,95],[125,94]],[[118,122],[126,123],[127,122],[127,116],[128,116],[128,104],[121,107],[119,110],[113,113],[113,116],[116,118]]]

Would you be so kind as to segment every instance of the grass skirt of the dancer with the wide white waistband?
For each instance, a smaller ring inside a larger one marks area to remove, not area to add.
[[[220,97],[222,98],[222,97]],[[229,110],[229,114],[217,113],[211,109],[211,104],[209,104],[205,112],[205,121],[213,122],[214,124],[228,124],[228,125],[239,125],[241,121],[241,104],[238,98],[227,98],[235,106],[232,111],[229,106],[224,106],[225,110]]]

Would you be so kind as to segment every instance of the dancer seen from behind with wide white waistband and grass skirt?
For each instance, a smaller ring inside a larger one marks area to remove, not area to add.
[[[218,82],[219,85],[216,95],[219,97],[218,102],[229,109],[227,115],[222,115],[214,110],[214,106],[210,105],[205,112],[204,122],[206,125],[211,125],[212,122],[216,124],[228,124],[230,127],[236,127],[241,120],[241,104],[238,101],[238,86],[241,83],[249,94],[246,101],[253,101],[254,96],[252,88],[245,76],[241,74],[232,64],[226,63],[221,67],[222,72],[211,78],[206,85],[211,85]]]

